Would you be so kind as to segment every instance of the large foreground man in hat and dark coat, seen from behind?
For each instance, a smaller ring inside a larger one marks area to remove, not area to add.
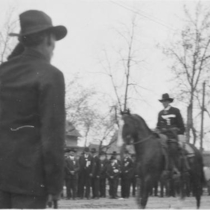
[[[38,10],[19,20],[24,50],[0,65],[0,208],[43,209],[63,188],[65,85],[50,62],[67,29]]]

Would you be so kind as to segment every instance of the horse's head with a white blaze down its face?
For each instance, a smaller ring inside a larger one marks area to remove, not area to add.
[[[131,114],[129,111],[121,112],[117,146],[121,147],[124,144],[134,143],[144,127],[144,121],[140,116]]]

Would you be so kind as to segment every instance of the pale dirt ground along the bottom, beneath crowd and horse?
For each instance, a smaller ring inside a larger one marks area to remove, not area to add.
[[[169,209],[177,208],[177,198],[159,198],[150,197],[147,209]],[[129,199],[109,199],[101,198],[98,200],[60,200],[58,204],[60,209],[137,209],[135,198]],[[210,209],[210,196],[204,195],[201,200],[201,209]],[[194,197],[187,197],[182,209],[196,209]]]

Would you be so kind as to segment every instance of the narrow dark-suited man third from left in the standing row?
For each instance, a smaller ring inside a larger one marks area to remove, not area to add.
[[[93,158],[93,176],[92,176],[92,198],[99,199],[99,186],[100,186],[100,171],[101,171],[101,160],[99,159],[96,149],[91,149]]]

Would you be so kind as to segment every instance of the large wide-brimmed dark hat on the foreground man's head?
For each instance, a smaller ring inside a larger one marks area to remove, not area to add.
[[[28,10],[19,15],[20,33],[10,33],[10,36],[26,36],[37,32],[50,30],[55,35],[56,40],[63,39],[67,34],[65,26],[53,26],[51,18],[44,12],[38,10]]]

